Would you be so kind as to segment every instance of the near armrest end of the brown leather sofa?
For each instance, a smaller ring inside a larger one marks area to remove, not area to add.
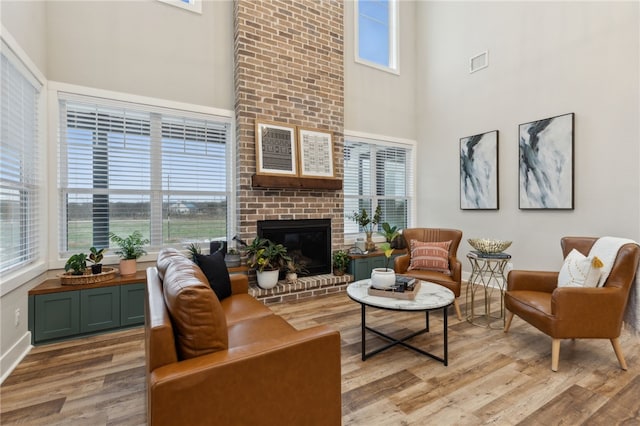
[[[151,372],[148,421],[340,424],[340,368],[340,334],[326,326],[166,365]]]

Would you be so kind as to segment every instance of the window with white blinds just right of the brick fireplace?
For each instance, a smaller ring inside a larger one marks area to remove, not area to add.
[[[361,232],[350,220],[354,212],[366,209],[369,215],[380,206],[381,223],[406,228],[413,202],[413,148],[384,141],[345,138],[344,148],[344,229]]]

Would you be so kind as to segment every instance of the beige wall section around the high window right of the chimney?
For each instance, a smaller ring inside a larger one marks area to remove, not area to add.
[[[415,10],[415,2],[399,2],[400,75],[396,75],[355,62],[354,2],[344,2],[345,130],[416,139]]]

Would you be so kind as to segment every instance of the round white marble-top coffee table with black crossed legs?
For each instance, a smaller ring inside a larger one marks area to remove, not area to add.
[[[367,358],[380,353],[386,349],[389,349],[395,345],[401,345],[405,348],[414,350],[422,355],[429,356],[437,361],[442,362],[444,365],[447,365],[447,309],[451,304],[453,304],[453,300],[455,298],[453,292],[446,287],[441,285],[431,283],[428,281],[421,281],[420,289],[418,290],[418,294],[416,295],[414,300],[403,300],[396,299],[393,297],[383,297],[383,296],[372,296],[369,295],[369,287],[371,287],[371,280],[360,280],[354,283],[349,284],[347,286],[347,295],[354,301],[360,303],[361,316],[362,316],[362,360],[366,360]],[[401,337],[399,339],[388,336],[379,330],[375,330],[366,325],[366,307],[370,306],[378,309],[387,309],[390,311],[415,311],[415,312],[424,312],[425,313],[425,328],[413,332],[407,336]],[[444,335],[444,356],[439,357],[429,352],[426,352],[420,348],[416,348],[408,343],[407,340],[416,337],[420,334],[424,334],[429,332],[429,312],[442,309],[443,315],[443,335]],[[366,331],[370,332],[382,337],[383,339],[389,341],[389,344],[375,349],[371,352],[366,351],[366,343],[365,343],[365,334]]]

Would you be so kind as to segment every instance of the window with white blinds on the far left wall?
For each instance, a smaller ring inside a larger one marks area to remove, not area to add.
[[[40,256],[38,103],[42,85],[2,42],[0,65],[0,273]]]

